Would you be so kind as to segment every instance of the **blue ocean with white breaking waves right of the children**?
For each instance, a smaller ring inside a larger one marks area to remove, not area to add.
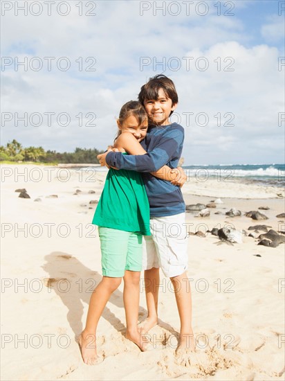
[[[199,181],[216,178],[217,181],[243,182],[266,186],[285,186],[285,164],[228,164],[217,166],[185,166],[189,177]]]

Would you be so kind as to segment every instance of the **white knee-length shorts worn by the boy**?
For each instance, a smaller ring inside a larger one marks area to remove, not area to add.
[[[183,274],[188,267],[185,213],[151,217],[150,231],[143,240],[143,269],[161,267],[167,277]]]

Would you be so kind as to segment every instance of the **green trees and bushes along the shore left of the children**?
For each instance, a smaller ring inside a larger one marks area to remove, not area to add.
[[[0,146],[0,161],[19,162],[33,161],[37,163],[99,163],[97,155],[103,151],[95,148],[75,148],[74,152],[45,151],[42,147],[23,148],[17,140]]]

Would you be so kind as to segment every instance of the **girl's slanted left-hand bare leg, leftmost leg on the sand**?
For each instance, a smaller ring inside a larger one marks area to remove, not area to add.
[[[93,365],[98,359],[96,351],[96,330],[98,321],[113,291],[120,285],[122,278],[103,276],[102,281],[91,295],[86,326],[80,335],[82,359],[85,364]]]

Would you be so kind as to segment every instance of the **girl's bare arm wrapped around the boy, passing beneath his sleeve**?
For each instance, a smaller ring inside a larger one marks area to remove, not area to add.
[[[122,132],[118,139],[116,139],[114,148],[117,148],[119,151],[125,150],[129,154],[147,153],[140,145],[139,141],[130,132]],[[151,175],[158,177],[158,179],[170,181],[177,186],[183,186],[187,179],[185,172],[181,167],[172,169],[169,168],[169,166],[163,166],[156,172],[151,172]]]

